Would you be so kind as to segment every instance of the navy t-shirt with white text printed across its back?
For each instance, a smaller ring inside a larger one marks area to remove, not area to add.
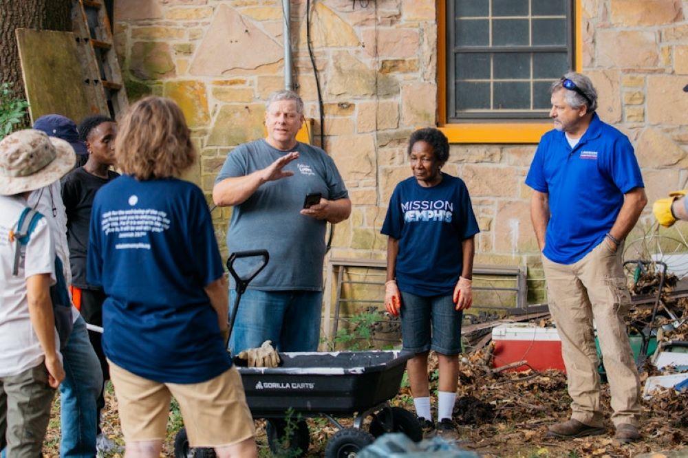
[[[107,358],[157,382],[204,382],[229,369],[204,291],[223,268],[200,188],[122,175],[96,194],[90,226],[87,280],[108,296]]]

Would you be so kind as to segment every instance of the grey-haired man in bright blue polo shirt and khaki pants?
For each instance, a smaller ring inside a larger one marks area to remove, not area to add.
[[[570,72],[552,85],[555,129],[540,140],[526,184],[530,218],[542,251],[552,318],[573,402],[567,422],[548,436],[604,433],[594,325],[612,393],[615,439],[640,437],[640,382],[624,317],[630,294],[623,274],[623,240],[647,204],[628,138],[595,113],[587,76]]]

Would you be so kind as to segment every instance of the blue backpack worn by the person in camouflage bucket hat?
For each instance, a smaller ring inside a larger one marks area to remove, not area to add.
[[[31,233],[36,228],[36,223],[43,217],[41,213],[32,208],[24,208],[19,215],[17,230],[14,231],[14,265],[12,275],[19,274],[19,262],[25,257],[26,245],[31,239]],[[72,334],[74,322],[72,320],[72,301],[69,301],[67,292],[67,281],[62,274],[62,261],[55,256],[55,279],[56,282],[50,287],[50,299],[52,300],[52,312],[55,316],[55,329],[60,338],[60,349],[64,349]]]

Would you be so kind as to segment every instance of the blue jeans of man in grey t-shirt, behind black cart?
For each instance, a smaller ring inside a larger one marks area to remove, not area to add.
[[[229,314],[237,297],[229,291]],[[318,351],[321,291],[246,290],[241,296],[229,348],[233,355],[266,340],[279,351]]]

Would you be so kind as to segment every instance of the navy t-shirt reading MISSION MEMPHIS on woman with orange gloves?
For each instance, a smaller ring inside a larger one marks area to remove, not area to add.
[[[442,173],[430,188],[414,177],[397,184],[381,232],[399,241],[399,290],[436,296],[453,293],[463,268],[462,241],[480,230],[466,184]]]

